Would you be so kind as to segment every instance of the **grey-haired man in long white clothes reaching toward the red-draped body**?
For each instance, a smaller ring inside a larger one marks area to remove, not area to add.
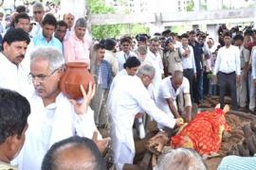
[[[182,124],[180,119],[172,118],[155,106],[146,89],[154,76],[154,67],[142,65],[137,71],[137,76],[119,77],[112,91],[108,109],[111,114],[114,163],[118,170],[128,168],[129,164],[133,163],[135,144],[132,127],[138,112],[147,112],[156,122],[166,127],[173,128]]]

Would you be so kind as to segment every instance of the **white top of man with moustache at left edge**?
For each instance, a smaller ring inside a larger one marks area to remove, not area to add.
[[[10,62],[3,53],[0,53],[0,88],[9,89],[28,96],[33,92],[32,85],[28,84],[27,73],[22,65]]]

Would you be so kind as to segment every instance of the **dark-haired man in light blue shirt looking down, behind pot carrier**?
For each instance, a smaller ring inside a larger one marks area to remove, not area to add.
[[[63,53],[63,44],[53,36],[57,27],[57,20],[54,15],[48,13],[42,22],[43,30],[33,38],[35,46],[51,46]]]

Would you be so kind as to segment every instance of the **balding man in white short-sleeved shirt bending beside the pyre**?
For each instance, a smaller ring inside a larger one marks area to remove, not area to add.
[[[179,93],[184,93],[185,98],[185,109],[182,111],[182,115],[179,114],[175,102]],[[188,122],[192,120],[190,82],[188,78],[183,76],[181,71],[176,70],[173,76],[167,76],[162,80],[157,94],[156,105],[160,110],[167,112],[174,118],[183,116]]]

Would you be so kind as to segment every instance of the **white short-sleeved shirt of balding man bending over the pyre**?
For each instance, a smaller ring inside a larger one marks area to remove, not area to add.
[[[174,117],[173,113],[171,112],[169,105],[166,101],[167,98],[171,98],[172,100],[176,100],[176,96],[180,93],[190,93],[190,82],[188,78],[183,76],[183,81],[180,87],[175,91],[174,87],[172,85],[171,81],[172,76],[165,77],[160,85],[160,89],[157,94],[156,99],[156,106],[163,110],[164,112],[170,114],[172,117]]]

